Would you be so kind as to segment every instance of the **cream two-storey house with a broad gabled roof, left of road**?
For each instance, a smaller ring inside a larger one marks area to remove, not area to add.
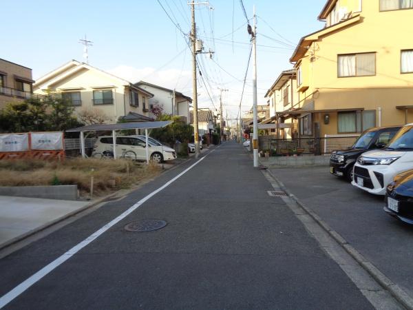
[[[61,93],[72,102],[74,113],[87,123],[151,121],[149,98],[153,94],[129,81],[72,60],[36,80],[35,94]]]

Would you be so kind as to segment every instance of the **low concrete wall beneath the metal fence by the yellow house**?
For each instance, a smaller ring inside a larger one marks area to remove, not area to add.
[[[311,167],[311,166],[328,166],[330,156],[274,156],[269,158],[260,158],[262,165],[269,167]]]

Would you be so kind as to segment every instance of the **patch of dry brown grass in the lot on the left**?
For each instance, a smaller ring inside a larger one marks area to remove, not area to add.
[[[90,192],[94,177],[94,196],[128,188],[160,174],[156,164],[95,158],[56,161],[0,161],[0,186],[78,185],[81,196]]]

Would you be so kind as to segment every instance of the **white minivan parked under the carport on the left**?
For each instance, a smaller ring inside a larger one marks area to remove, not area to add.
[[[92,156],[103,157],[107,154],[113,156],[113,137],[100,136],[94,145]],[[156,163],[162,161],[172,161],[176,159],[175,149],[164,145],[152,145],[149,143],[149,158]],[[146,143],[137,136],[116,137],[116,158],[127,158],[138,161],[146,161]]]

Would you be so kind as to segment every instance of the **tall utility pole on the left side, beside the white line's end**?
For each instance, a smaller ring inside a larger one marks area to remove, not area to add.
[[[200,144],[198,141],[198,89],[196,83],[196,29],[195,29],[195,2],[191,3],[192,17],[192,88],[193,88],[193,143],[195,143],[195,158],[200,156]]]

